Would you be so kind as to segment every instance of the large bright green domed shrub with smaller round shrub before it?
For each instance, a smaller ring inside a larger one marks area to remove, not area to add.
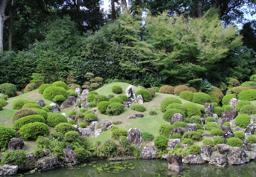
[[[47,87],[43,92],[43,97],[47,100],[53,101],[54,97],[57,95],[63,95],[67,98],[67,90],[63,87],[51,86]]]

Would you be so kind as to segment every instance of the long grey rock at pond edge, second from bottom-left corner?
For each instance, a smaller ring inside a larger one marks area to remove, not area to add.
[[[43,157],[37,160],[36,170],[48,171],[59,167],[57,156]]]

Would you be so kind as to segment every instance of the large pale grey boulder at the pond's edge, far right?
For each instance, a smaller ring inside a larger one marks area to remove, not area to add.
[[[231,147],[228,151],[227,157],[228,163],[232,165],[244,164],[250,160],[245,151],[240,147]]]

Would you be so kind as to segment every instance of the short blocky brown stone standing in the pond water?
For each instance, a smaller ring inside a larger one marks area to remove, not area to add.
[[[182,163],[181,155],[170,155],[167,157],[168,170],[182,171],[184,170],[184,164]]]

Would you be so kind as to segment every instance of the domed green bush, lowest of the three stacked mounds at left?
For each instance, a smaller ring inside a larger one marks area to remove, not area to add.
[[[20,136],[24,138],[24,140],[37,139],[38,136],[48,135],[49,127],[43,122],[33,122],[33,123],[23,125],[20,128],[19,133],[20,133]]]

